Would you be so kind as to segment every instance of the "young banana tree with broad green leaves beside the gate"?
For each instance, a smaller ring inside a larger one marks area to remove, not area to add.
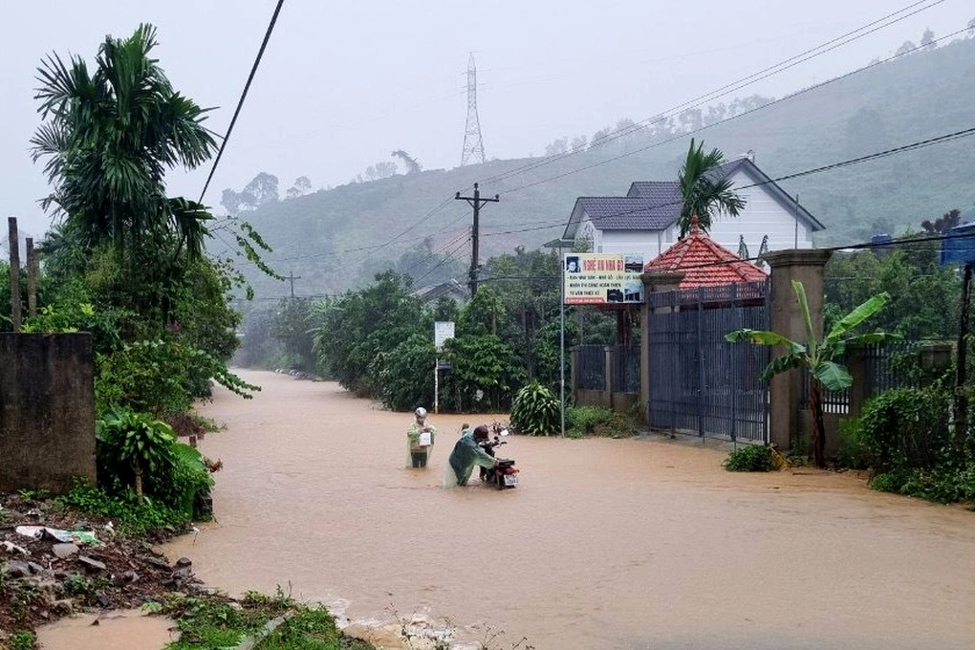
[[[814,333],[811,322],[811,310],[807,303],[804,285],[796,280],[791,281],[794,293],[797,294],[797,305],[804,319],[807,331],[807,341],[799,343],[776,332],[765,330],[740,329],[726,335],[729,342],[749,341],[754,345],[783,346],[787,354],[770,362],[763,371],[763,379],[770,380],[774,375],[786,372],[792,368],[806,368],[811,374],[808,382],[807,401],[814,421],[813,454],[814,464],[824,467],[824,407],[821,403],[821,391],[844,390],[851,386],[852,377],[848,369],[834,361],[844,354],[850,344],[888,343],[899,340],[897,334],[886,332],[872,332],[869,334],[851,335],[851,331],[865,320],[878,313],[889,301],[889,294],[876,294],[856,307],[847,316],[839,320],[835,326],[821,340]]]

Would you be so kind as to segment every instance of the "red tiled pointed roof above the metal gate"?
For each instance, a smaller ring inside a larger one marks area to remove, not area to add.
[[[685,277],[679,289],[697,289],[719,285],[758,282],[767,274],[750,262],[723,248],[699,229],[698,215],[692,215],[692,227],[684,239],[645,265],[645,273],[682,272]]]

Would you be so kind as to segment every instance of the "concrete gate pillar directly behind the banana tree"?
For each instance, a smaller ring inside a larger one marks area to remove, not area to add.
[[[797,296],[791,281],[804,285],[811,312],[814,334],[824,332],[824,266],[831,251],[819,249],[789,249],[767,253],[764,261],[770,265],[770,325],[771,329],[789,339],[807,340],[804,318],[797,307]],[[773,350],[774,357],[784,353]],[[782,372],[770,380],[770,441],[780,449],[789,449],[792,436],[801,433],[802,399],[799,370]]]

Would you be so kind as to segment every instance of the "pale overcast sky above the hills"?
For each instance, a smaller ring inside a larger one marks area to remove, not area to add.
[[[469,52],[490,158],[541,154],[563,135],[588,137],[621,117],[648,118],[911,4],[912,0],[465,0],[330,3],[285,0],[271,43],[206,202],[259,171],[282,189],[349,181],[405,149],[426,169],[458,165]],[[159,29],[157,56],[174,86],[233,114],[275,0],[3,0],[0,13],[0,216],[40,237],[46,191],[28,153],[38,125],[36,67],[45,54],[94,59],[106,34]],[[927,3],[929,4],[929,3]],[[920,5],[920,7],[925,5]],[[737,96],[781,95],[823,81],[929,27],[966,26],[973,3],[934,7]],[[725,100],[732,97],[723,98]],[[208,169],[175,174],[171,194],[196,198]],[[4,231],[6,224],[4,219]]]

